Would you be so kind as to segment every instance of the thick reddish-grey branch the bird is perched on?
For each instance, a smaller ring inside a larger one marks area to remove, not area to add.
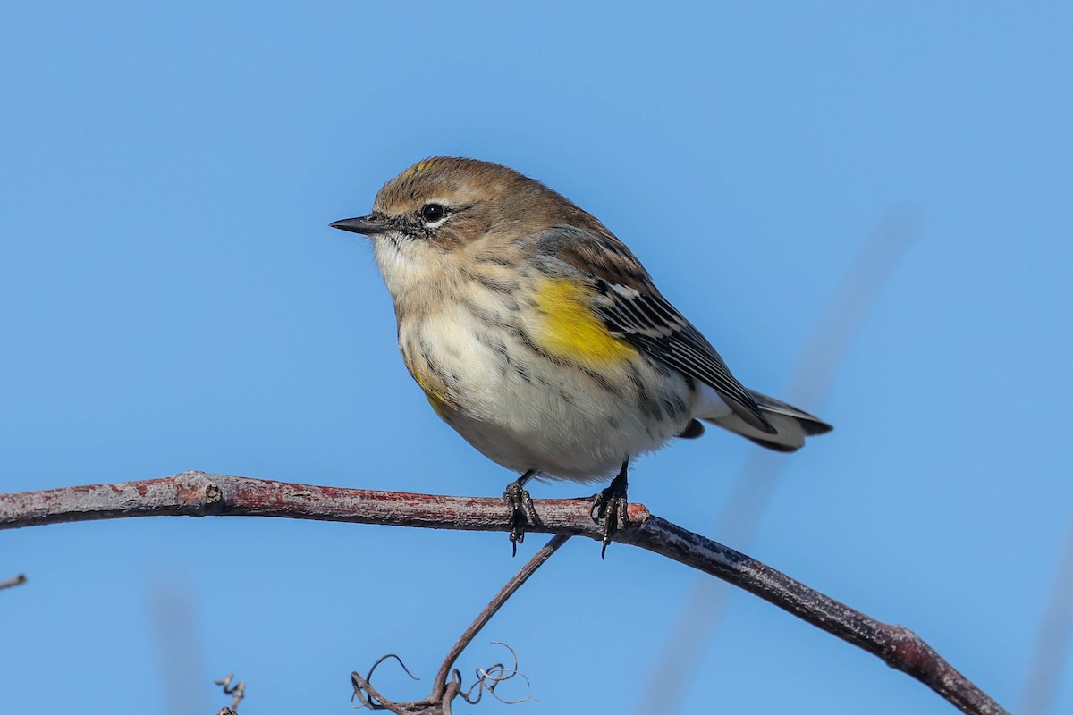
[[[536,500],[540,523],[529,532],[602,538],[586,500]],[[244,516],[364,524],[509,532],[499,498],[474,498],[292,485],[202,472],[113,485],[0,494],[0,528],[149,516]],[[927,643],[901,626],[876,621],[754,558],[629,507],[615,540],[716,576],[818,628],[879,656],[921,681],[964,713],[1004,711]]]

